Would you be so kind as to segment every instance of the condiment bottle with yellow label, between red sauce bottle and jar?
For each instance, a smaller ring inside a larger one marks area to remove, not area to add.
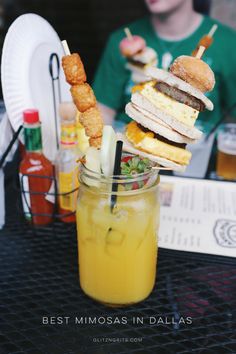
[[[60,104],[61,140],[56,158],[56,175],[59,193],[59,214],[64,222],[75,222],[78,182],[78,138],[76,108],[71,102]],[[66,216],[67,214],[67,216]]]

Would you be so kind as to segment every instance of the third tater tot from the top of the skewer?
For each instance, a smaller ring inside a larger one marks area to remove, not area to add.
[[[85,133],[90,138],[100,137],[102,135],[103,120],[97,107],[89,108],[79,117],[80,123],[85,128]]]

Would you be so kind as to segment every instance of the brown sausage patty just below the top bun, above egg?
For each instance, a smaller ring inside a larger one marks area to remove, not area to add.
[[[186,104],[193,109],[196,109],[199,112],[202,112],[205,109],[204,103],[198,98],[191,96],[189,93],[184,92],[177,87],[170,86],[165,82],[157,82],[154,88],[173,98],[174,100]]]

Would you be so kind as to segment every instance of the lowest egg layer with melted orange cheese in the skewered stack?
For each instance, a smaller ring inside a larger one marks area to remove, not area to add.
[[[153,132],[142,131],[134,121],[126,127],[126,137],[137,149],[164,157],[181,165],[187,165],[190,162],[191,152],[160,141],[154,136]]]

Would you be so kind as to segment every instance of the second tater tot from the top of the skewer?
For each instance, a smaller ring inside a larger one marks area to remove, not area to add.
[[[73,85],[70,89],[73,101],[80,112],[96,105],[96,98],[89,84]]]

